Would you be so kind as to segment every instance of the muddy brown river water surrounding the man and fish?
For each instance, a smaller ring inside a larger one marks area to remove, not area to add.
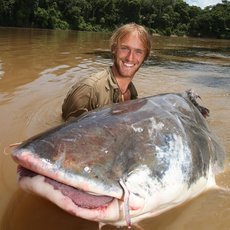
[[[9,145],[62,122],[61,104],[72,84],[111,64],[109,35],[0,28],[1,230],[98,228],[20,190]],[[153,37],[151,58],[134,82],[139,97],[193,88],[210,109],[208,123],[226,151],[225,170],[217,175],[224,189],[207,191],[140,226],[230,229],[230,40]]]

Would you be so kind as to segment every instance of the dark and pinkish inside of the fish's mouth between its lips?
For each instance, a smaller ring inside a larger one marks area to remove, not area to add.
[[[31,171],[23,166],[19,165],[17,169],[19,176],[19,182],[25,177],[36,177],[40,174]],[[63,194],[63,196],[68,197],[72,202],[83,209],[101,209],[109,206],[110,203],[115,199],[114,197],[107,195],[96,195],[91,194],[81,189],[75,188],[73,186],[58,182],[54,179],[51,179],[47,176],[44,176],[44,182],[50,184],[54,190],[58,190]]]

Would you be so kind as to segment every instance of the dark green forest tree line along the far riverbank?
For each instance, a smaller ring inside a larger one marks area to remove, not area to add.
[[[0,26],[110,31],[136,22],[162,35],[230,38],[230,2],[201,9],[183,0],[0,0]]]

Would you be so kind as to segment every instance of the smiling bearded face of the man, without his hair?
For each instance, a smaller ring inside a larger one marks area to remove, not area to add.
[[[114,50],[113,72],[116,77],[133,78],[145,59],[145,48],[137,32],[126,35]]]

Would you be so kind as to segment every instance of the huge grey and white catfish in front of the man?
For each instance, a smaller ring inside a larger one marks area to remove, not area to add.
[[[73,215],[118,226],[215,187],[224,165],[204,117],[186,94],[173,93],[89,112],[23,142],[12,157],[36,173],[19,167],[23,189]],[[71,189],[59,189],[59,182]]]

